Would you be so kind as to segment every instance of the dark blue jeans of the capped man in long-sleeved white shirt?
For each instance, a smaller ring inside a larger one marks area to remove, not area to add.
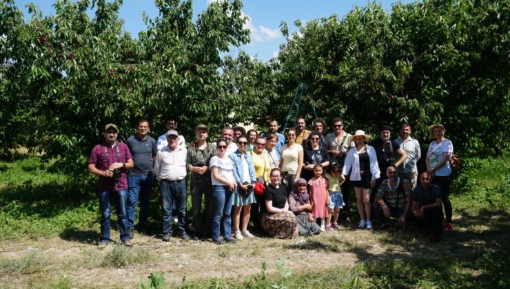
[[[163,202],[163,235],[172,234],[172,205],[176,204],[179,219],[179,234],[186,231],[186,179],[161,180]]]

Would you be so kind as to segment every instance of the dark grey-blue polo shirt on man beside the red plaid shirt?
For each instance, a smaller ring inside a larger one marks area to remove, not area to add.
[[[128,171],[128,175],[147,175],[152,171],[152,156],[158,153],[156,140],[147,136],[141,140],[138,134],[130,136],[125,141],[131,151],[134,167]]]

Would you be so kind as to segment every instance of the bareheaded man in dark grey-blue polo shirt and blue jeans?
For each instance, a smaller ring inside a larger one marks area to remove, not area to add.
[[[138,133],[125,141],[133,156],[134,167],[128,172],[128,233],[134,234],[134,211],[140,199],[139,231],[144,231],[149,211],[150,193],[154,180],[152,167],[158,153],[156,140],[149,136],[150,126],[147,120],[139,120]]]

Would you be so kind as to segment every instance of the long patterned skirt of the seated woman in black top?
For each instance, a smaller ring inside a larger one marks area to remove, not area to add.
[[[298,237],[296,225],[298,219],[292,212],[287,213],[265,213],[262,215],[262,228],[269,235],[278,239],[289,239]]]

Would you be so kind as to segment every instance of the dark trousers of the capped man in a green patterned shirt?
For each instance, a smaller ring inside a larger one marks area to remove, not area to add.
[[[193,207],[193,228],[196,237],[211,235],[212,185],[192,182],[190,184]],[[205,208],[202,213],[202,196]]]

